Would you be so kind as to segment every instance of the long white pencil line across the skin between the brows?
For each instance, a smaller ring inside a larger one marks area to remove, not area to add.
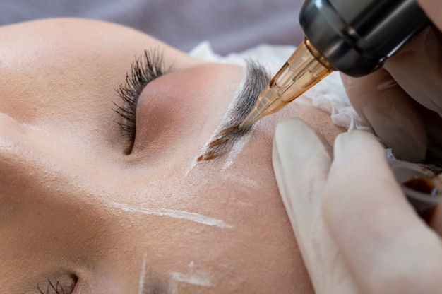
[[[127,204],[121,204],[114,201],[108,202],[109,206],[119,208],[122,211],[126,211],[129,213],[142,213],[150,216],[168,216],[169,218],[179,218],[182,220],[193,221],[194,223],[201,223],[202,225],[208,225],[210,227],[217,228],[233,228],[233,225],[229,225],[222,220],[217,220],[216,218],[210,218],[208,216],[203,216],[199,213],[187,212],[187,211],[175,211],[172,209],[160,208],[160,209],[151,209],[151,208],[138,208],[135,206],[129,206]]]

